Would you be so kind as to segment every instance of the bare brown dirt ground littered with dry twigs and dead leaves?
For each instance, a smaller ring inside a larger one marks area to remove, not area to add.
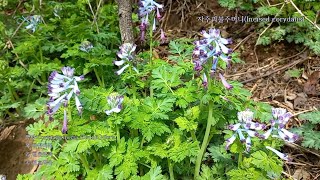
[[[198,38],[199,31],[209,27],[220,28],[224,37],[234,40],[232,48],[240,53],[245,64],[235,64],[226,72],[229,80],[242,82],[253,93],[254,100],[267,102],[276,107],[288,109],[294,115],[320,108],[320,84],[312,79],[313,72],[320,71],[320,58],[309,50],[295,44],[284,42],[270,46],[255,46],[258,34],[255,23],[215,23],[199,21],[199,16],[235,16],[246,15],[246,12],[228,11],[220,7],[216,1],[184,0],[164,1],[165,16],[162,21],[167,38]],[[159,34],[157,34],[159,36]],[[165,57],[167,47],[161,46],[158,54]],[[298,78],[290,78],[285,71],[292,68],[303,68]],[[319,73],[320,74],[320,73]],[[320,75],[319,75],[320,76]],[[311,83],[311,80],[315,83]],[[314,90],[310,90],[314,89]],[[294,118],[291,126],[299,126],[301,122]],[[27,124],[17,124],[0,129],[0,174],[7,179],[15,179],[18,173],[32,173],[38,165],[25,164],[34,158],[27,157],[32,152],[26,144]],[[320,155],[315,150],[304,150],[301,146],[285,149],[294,154],[292,163],[285,164],[284,175],[299,179],[320,179]],[[301,158],[299,154],[303,157]],[[298,158],[299,157],[299,158]]]

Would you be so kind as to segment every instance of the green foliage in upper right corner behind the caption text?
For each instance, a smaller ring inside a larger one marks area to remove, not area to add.
[[[320,38],[319,29],[303,18],[291,3],[261,3],[259,0],[253,1],[235,1],[235,0],[219,0],[222,7],[228,9],[244,9],[250,10],[249,17],[269,18],[269,21],[259,22],[260,28],[256,29],[262,36],[258,39],[257,45],[270,45],[273,42],[286,40],[289,43],[302,44],[311,49],[315,54],[320,54]],[[296,6],[301,10],[308,19],[316,22],[319,27],[319,17],[317,16],[320,4],[316,1],[294,1]],[[277,4],[277,5],[276,5]],[[286,22],[272,22],[272,18],[291,18]],[[296,19],[293,19],[296,18]],[[269,24],[272,23],[272,26]]]

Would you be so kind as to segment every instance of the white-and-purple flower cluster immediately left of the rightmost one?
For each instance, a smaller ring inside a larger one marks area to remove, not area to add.
[[[237,135],[242,143],[246,144],[246,151],[249,152],[251,148],[251,137],[259,137],[260,134],[257,130],[262,130],[266,126],[264,124],[253,122],[253,112],[249,109],[238,112],[239,123],[229,125],[228,129],[235,131],[231,138],[226,140],[226,149],[228,150],[230,145],[236,140]],[[248,136],[245,137],[243,132]]]

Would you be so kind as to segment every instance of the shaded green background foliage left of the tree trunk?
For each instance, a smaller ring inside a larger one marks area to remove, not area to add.
[[[88,2],[97,14],[96,23]],[[92,80],[91,85],[96,80],[103,85],[114,79],[112,60],[117,50],[115,45],[120,43],[114,4],[98,7],[93,1],[0,1],[0,8],[8,8],[8,12],[18,5],[24,9],[23,13],[0,14],[3,19],[0,23],[0,83],[7,84],[0,88],[1,118],[30,118],[23,113],[26,102],[35,102],[46,93],[49,74],[63,66],[75,67],[76,74],[85,73],[86,78]],[[41,23],[36,31],[25,29],[29,25],[28,16],[40,14]],[[79,50],[85,40],[94,46],[89,52]],[[107,78],[99,79],[101,76]]]

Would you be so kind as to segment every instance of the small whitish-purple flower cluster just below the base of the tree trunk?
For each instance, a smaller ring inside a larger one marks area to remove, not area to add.
[[[116,66],[122,66],[125,63],[128,63],[124,65],[120,70],[116,72],[117,75],[120,75],[124,72],[125,69],[127,69],[131,64],[132,60],[134,59],[133,52],[136,50],[137,45],[131,44],[131,43],[124,43],[120,46],[120,50],[117,53],[118,57],[121,59],[120,61],[113,61],[113,64]],[[138,73],[138,70],[133,67],[133,70]]]

